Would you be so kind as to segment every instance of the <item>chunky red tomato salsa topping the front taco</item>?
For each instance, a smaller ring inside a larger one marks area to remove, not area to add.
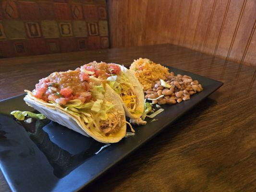
[[[33,95],[46,102],[53,101],[60,105],[65,105],[73,99],[80,99],[83,103],[89,102],[91,92],[88,79],[79,71],[53,72],[39,80]]]

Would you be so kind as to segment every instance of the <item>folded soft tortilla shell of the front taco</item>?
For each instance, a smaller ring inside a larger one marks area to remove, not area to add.
[[[95,82],[95,84],[101,84],[100,81],[96,78],[90,78],[91,81]],[[118,132],[111,133],[110,135],[106,136],[94,129],[90,129],[86,126],[84,120],[80,117],[74,116],[61,106],[57,106],[51,103],[47,103],[42,99],[38,99],[33,96],[32,92],[25,90],[27,95],[24,97],[24,101],[27,105],[37,109],[40,113],[44,114],[49,120],[53,120],[58,122],[59,124],[68,127],[76,132],[79,132],[87,137],[91,136],[95,140],[101,143],[117,143],[119,142],[126,133],[126,123],[125,123],[125,113],[124,109],[122,108],[122,100],[119,96],[116,96],[114,90],[108,84],[105,84],[105,97],[107,101],[111,102],[115,105],[116,108],[122,114],[122,127]]]

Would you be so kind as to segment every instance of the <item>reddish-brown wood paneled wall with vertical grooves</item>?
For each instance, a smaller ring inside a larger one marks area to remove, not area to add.
[[[256,0],[108,0],[110,46],[171,43],[256,66]]]

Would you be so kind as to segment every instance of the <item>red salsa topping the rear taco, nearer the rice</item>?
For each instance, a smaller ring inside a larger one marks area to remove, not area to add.
[[[105,62],[90,62],[77,68],[77,71],[80,71],[82,74],[82,79],[87,79],[90,76],[97,77],[99,79],[107,79],[111,75],[118,75],[121,72],[121,68],[114,63],[105,63]],[[89,72],[86,72],[89,71]]]

